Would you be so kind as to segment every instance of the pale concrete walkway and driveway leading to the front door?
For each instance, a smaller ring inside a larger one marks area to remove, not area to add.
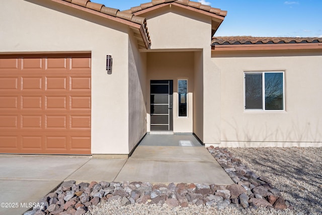
[[[151,136],[146,137],[150,140],[148,142],[153,142]],[[128,159],[0,155],[0,203],[4,202],[8,206],[2,205],[0,214],[21,214],[29,209],[29,203],[37,202],[62,181],[68,180],[75,180],[77,183],[142,181],[233,184],[207,149],[193,143],[195,140],[192,135],[176,138],[173,138],[175,140],[172,144],[166,141],[170,146],[160,146],[162,143],[159,141],[154,141],[158,142],[155,146],[142,141],[143,144],[141,142]],[[192,141],[192,146],[179,146],[180,140],[186,145]]]

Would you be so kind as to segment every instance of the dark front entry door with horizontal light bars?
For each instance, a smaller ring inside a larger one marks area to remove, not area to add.
[[[173,80],[150,81],[151,131],[173,130]]]

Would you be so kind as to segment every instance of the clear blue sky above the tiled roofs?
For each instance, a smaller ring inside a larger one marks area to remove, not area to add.
[[[215,36],[322,37],[322,0],[194,0],[228,11]],[[149,0],[92,0],[130,9]]]

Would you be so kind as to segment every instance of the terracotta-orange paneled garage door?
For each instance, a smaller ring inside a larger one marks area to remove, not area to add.
[[[91,154],[91,56],[0,56],[0,153]]]

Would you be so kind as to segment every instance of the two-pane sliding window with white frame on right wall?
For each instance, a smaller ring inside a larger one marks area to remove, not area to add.
[[[284,110],[284,73],[245,73],[245,109]]]

